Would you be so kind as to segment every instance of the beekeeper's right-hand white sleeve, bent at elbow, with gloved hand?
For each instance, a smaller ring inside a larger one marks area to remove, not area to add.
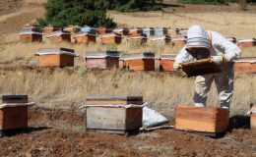
[[[227,62],[232,62],[232,60],[240,58],[241,49],[236,44],[228,41],[219,32],[212,31],[212,35],[213,46],[217,47],[219,51],[224,53],[221,56],[213,56],[213,62],[220,65]]]

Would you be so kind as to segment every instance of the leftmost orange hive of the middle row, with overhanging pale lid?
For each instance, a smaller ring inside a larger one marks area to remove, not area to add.
[[[35,54],[38,56],[39,67],[73,67],[75,54],[68,48],[40,48]]]

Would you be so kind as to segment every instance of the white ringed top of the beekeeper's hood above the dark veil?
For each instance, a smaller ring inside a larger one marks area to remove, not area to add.
[[[188,29],[186,49],[193,47],[212,47],[209,34],[203,26],[190,26]]]

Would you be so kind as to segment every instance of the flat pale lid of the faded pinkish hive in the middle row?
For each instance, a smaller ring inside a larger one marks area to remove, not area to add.
[[[119,57],[119,51],[95,51],[87,52],[86,58]]]

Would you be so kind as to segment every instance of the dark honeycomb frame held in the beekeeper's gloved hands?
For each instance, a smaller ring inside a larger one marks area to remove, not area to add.
[[[187,77],[202,76],[214,73],[221,73],[221,68],[209,59],[182,63],[182,71]]]

